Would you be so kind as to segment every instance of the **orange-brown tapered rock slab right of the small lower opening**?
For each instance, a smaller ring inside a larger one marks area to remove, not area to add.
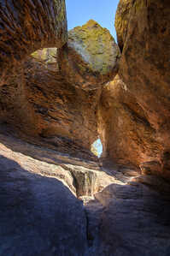
[[[97,117],[103,158],[137,168],[159,158],[161,143],[155,129],[119,75],[103,87]]]

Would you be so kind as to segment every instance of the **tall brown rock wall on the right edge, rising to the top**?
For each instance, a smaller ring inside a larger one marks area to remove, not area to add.
[[[140,155],[144,152],[141,161],[160,163],[161,175],[170,168],[168,158],[164,158],[170,152],[169,22],[169,1],[120,0],[115,18],[122,51],[120,78],[143,110],[149,131],[154,131],[153,135],[146,135],[147,148],[145,129],[138,136],[141,149],[144,147],[144,151],[139,151]],[[132,152],[137,155],[138,149],[133,147]],[[138,164],[138,158],[135,161],[132,157],[132,162]]]

